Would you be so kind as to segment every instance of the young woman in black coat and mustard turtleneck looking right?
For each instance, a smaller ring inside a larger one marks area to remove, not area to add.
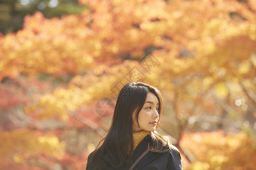
[[[156,133],[163,101],[145,83],[127,83],[119,92],[112,125],[88,156],[90,169],[182,169],[180,152],[169,137]]]

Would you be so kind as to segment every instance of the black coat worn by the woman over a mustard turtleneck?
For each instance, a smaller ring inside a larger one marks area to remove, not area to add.
[[[98,169],[106,169],[106,170],[126,170],[129,169],[131,164],[137,160],[137,158],[147,149],[147,138],[149,135],[143,139],[141,143],[139,143],[138,147],[133,152],[131,156],[131,163],[124,164],[122,167],[117,167],[117,156],[113,155],[111,151],[107,151],[103,156],[101,163],[98,166]],[[90,154],[91,155],[91,154]],[[86,170],[91,170],[90,167],[90,155],[88,156],[88,164]],[[170,148],[165,153],[158,152],[148,152],[134,167],[134,170],[182,170],[181,158],[179,151],[175,151]]]

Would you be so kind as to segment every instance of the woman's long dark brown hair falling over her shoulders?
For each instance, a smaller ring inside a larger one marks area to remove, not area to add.
[[[133,154],[133,118],[138,123],[139,112],[141,111],[148,92],[151,92],[158,98],[159,102],[159,120],[162,115],[163,100],[160,91],[146,83],[132,82],[127,83],[119,92],[117,103],[114,109],[112,124],[108,134],[97,146],[90,159],[90,165],[97,169],[97,165],[102,160],[106,150],[110,150],[118,156],[119,166],[130,160]],[[139,125],[139,124],[138,124]],[[156,125],[158,127],[159,121]],[[156,131],[150,132],[151,142],[148,148],[154,152],[166,152],[171,147],[170,138],[157,134]],[[100,145],[102,143],[102,145]]]

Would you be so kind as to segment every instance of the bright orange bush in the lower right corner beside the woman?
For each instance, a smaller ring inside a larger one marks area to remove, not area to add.
[[[254,169],[256,159],[253,138],[243,133],[184,134],[180,143],[195,156],[186,169]],[[251,148],[251,149],[248,149]]]

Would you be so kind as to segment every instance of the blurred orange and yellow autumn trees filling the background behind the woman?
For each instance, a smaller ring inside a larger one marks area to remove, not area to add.
[[[85,169],[127,82],[189,169],[256,167],[256,1],[0,0],[0,169]]]

